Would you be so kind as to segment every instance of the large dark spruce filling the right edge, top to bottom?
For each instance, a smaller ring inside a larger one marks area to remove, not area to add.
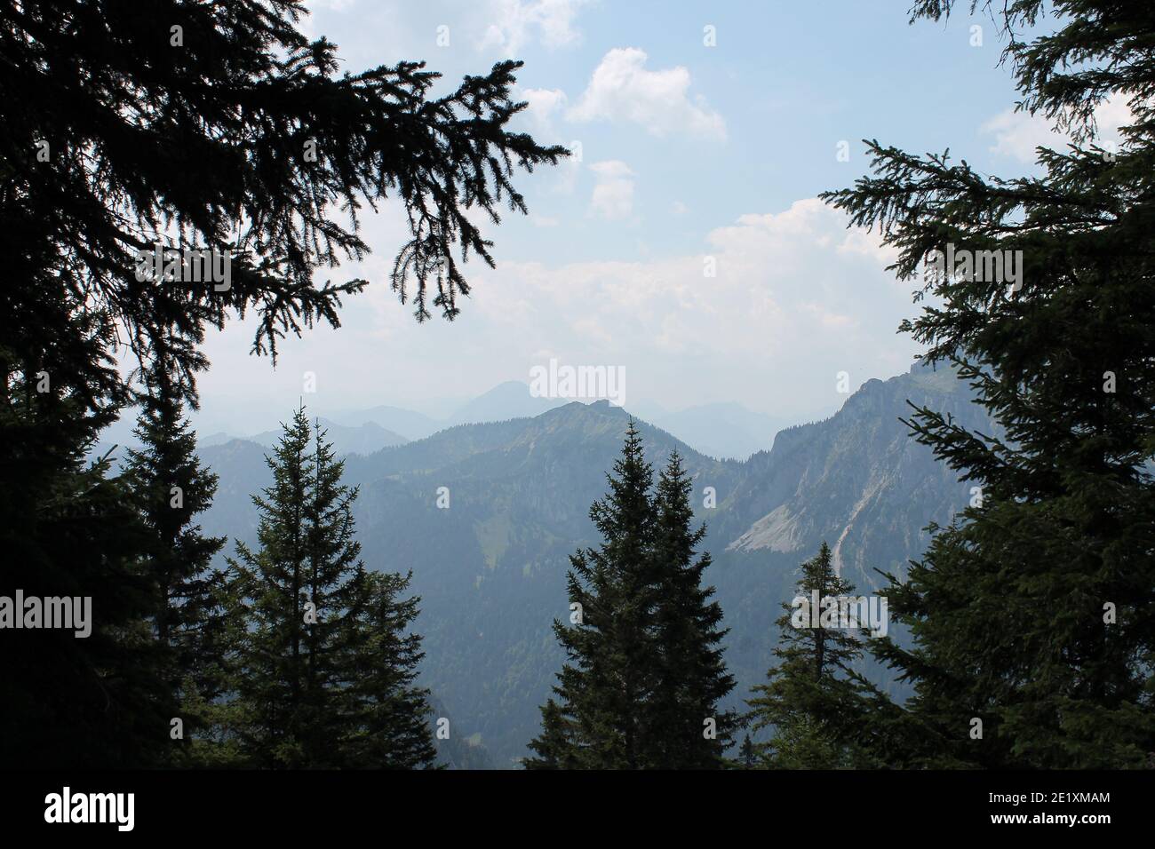
[[[952,7],[922,0],[914,17]],[[1155,10],[992,12],[1020,107],[1071,146],[1038,148],[1040,176],[1001,179],[869,142],[874,174],[825,195],[879,228],[900,277],[934,259],[934,305],[903,329],[930,362],[955,363],[1003,429],[973,433],[930,409],[910,422],[977,498],[886,590],[915,639],[877,646],[915,687],[889,757],[1139,767],[1155,751]],[[1132,116],[1118,150],[1095,136],[1108,97]],[[1019,280],[947,268],[931,252],[948,247],[998,252],[1004,268],[1021,256]]]

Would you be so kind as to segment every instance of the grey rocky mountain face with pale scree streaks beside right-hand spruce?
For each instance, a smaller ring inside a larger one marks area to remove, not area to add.
[[[728,549],[808,557],[825,539],[860,588],[877,586],[875,569],[902,573],[925,548],[923,528],[948,522],[970,498],[969,485],[909,437],[900,420],[912,412],[908,400],[991,429],[949,371],[916,365],[870,380],[832,418],[782,431],[772,450],[751,457],[735,509],[742,521],[748,507],[765,513]]]

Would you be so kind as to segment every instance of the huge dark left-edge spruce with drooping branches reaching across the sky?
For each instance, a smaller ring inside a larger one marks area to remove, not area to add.
[[[512,97],[519,62],[433,96],[423,62],[342,73],[335,45],[303,31],[305,14],[292,0],[0,7],[0,469],[14,482],[0,528],[22,564],[13,588],[83,590],[102,617],[99,639],[61,648],[29,632],[5,653],[20,654],[6,680],[27,690],[8,700],[0,738],[42,762],[55,751],[74,765],[140,762],[151,744],[137,721],[154,733],[159,690],[119,695],[152,664],[106,641],[139,639],[156,609],[134,572],[144,552],[132,548],[132,502],[114,504],[122,487],[80,460],[131,400],[119,348],[144,364],[166,344],[177,395],[195,405],[208,328],[255,318],[253,351],[275,358],[285,335],[340,325],[342,298],[367,281],[325,273],[363,259],[357,218],[389,201],[410,230],[387,285],[419,320],[452,319],[469,293],[464,261],[493,262],[478,216],[524,213],[515,174],[566,155],[511,132],[526,106]],[[137,276],[158,243],[221,263],[228,253],[230,278]],[[51,392],[29,403],[42,374]],[[64,527],[65,515],[92,521]]]

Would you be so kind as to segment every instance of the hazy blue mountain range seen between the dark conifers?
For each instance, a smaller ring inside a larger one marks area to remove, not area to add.
[[[725,612],[725,656],[738,682],[729,706],[742,707],[765,677],[773,623],[793,595],[798,564],[824,539],[843,575],[869,591],[879,572],[902,575],[925,550],[931,521],[948,522],[966,506],[968,485],[900,422],[908,400],[990,432],[964,383],[922,365],[867,381],[830,418],[781,430],[769,450],[745,461],[717,460],[639,423],[655,467],[677,449],[693,476],[714,560],[707,580]],[[568,616],[568,557],[598,542],[589,507],[605,493],[629,417],[604,401],[573,402],[345,459],[345,481],[359,487],[364,560],[412,572],[423,683],[478,749],[475,761],[484,750],[484,762],[515,766],[537,732],[538,706],[562,661],[551,626]],[[249,494],[268,485],[264,452],[249,440],[200,446],[219,476],[202,516],[207,533],[253,542]],[[448,506],[438,506],[439,496]],[[866,671],[902,695],[885,670]]]

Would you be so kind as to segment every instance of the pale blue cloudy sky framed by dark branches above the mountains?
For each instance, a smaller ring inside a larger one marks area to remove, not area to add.
[[[551,359],[620,370],[626,409],[739,402],[800,423],[908,371],[918,347],[897,327],[918,308],[915,282],[818,194],[869,172],[863,139],[949,148],[1001,177],[1034,171],[1034,147],[1056,141],[1014,112],[989,17],[961,8],[909,24],[909,5],[308,3],[303,28],[336,43],[350,72],[422,59],[445,75],[440,91],[523,60],[517,128],[579,155],[515,178],[530,214],[485,228],[497,268],[465,266],[472,293],[453,322],[418,325],[389,291],[401,210],[367,217],[373,254],[331,274],[371,282],[338,330],[286,340],[275,370],[249,356],[251,323],[210,332],[199,425],[264,430],[303,397],[322,415],[442,416]],[[1118,112],[1104,106],[1104,127]],[[315,392],[303,396],[306,372]]]

